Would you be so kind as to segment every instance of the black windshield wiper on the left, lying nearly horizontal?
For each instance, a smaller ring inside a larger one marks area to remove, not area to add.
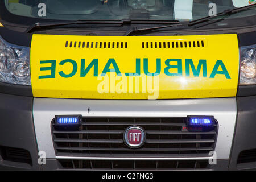
[[[72,25],[72,24],[170,24],[170,21],[154,21],[154,20],[77,20],[74,22],[53,22],[53,23],[35,23],[28,27],[26,32],[31,33],[35,30],[43,30],[48,28],[57,28],[60,26]]]

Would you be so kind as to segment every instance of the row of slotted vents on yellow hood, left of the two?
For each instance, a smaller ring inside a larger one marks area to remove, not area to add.
[[[65,47],[73,48],[128,48],[127,42],[81,42],[66,41]]]

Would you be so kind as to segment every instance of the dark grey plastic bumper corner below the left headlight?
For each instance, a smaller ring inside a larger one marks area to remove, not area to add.
[[[32,166],[26,163],[0,160],[0,169],[8,169],[10,167],[40,169],[32,105],[32,97],[0,93],[0,146],[23,148],[30,152],[32,159]]]

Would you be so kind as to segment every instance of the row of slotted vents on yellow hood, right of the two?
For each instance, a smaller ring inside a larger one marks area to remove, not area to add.
[[[204,40],[142,42],[142,48],[199,48],[205,47]]]

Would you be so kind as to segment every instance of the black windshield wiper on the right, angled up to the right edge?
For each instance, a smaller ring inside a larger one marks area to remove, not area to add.
[[[224,10],[223,12],[218,13],[216,16],[206,16],[204,18],[193,20],[192,22],[185,23],[185,24],[178,23],[178,24],[169,24],[167,26],[147,27],[147,28],[131,27],[128,31],[125,32],[125,34],[123,34],[123,36],[129,36],[129,35],[137,33],[137,32],[152,31],[152,30],[158,30],[158,29],[168,28],[168,27],[183,28],[183,27],[192,27],[192,26],[195,26],[196,24],[200,24],[200,27],[202,27],[202,26],[206,26],[208,24],[220,22],[220,21],[225,19],[225,18],[221,18],[221,19],[217,19],[217,20],[212,20],[212,19],[215,19],[217,17],[224,16],[224,15],[231,15],[231,14],[234,14],[234,13],[238,13],[240,11],[251,9],[253,7],[256,7],[256,4],[245,6],[245,7],[239,7],[239,8],[232,9],[232,10]],[[208,20],[212,20],[212,21],[208,22]],[[201,24],[201,23],[204,23],[204,24]]]

